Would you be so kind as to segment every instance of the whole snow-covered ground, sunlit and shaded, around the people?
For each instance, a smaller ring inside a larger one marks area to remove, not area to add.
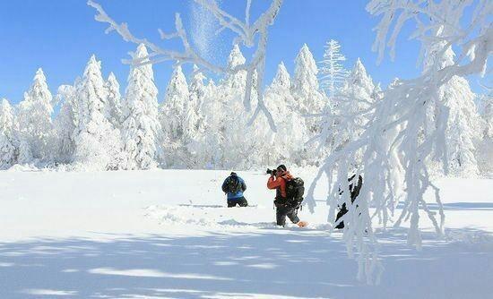
[[[296,175],[307,184],[315,171]],[[491,298],[493,180],[440,179],[446,240],[424,217],[378,232],[379,286],[356,280],[326,232],[324,184],[310,226],[273,225],[267,176],[240,172],[252,207],[224,208],[228,171],[0,172],[0,298]],[[431,193],[428,200],[431,201]]]

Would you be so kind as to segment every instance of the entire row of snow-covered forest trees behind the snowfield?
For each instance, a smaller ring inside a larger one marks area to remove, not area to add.
[[[145,59],[148,52],[141,44],[133,55]],[[235,45],[228,68],[245,60]],[[39,69],[18,105],[2,100],[0,166],[65,170],[318,166],[324,155],[359,138],[372,117],[361,112],[380,101],[384,91],[359,59],[346,70],[344,65],[350,63],[333,39],[323,57],[314,57],[303,45],[294,61],[292,72],[281,62],[264,89],[277,132],[262,116],[247,124],[245,71],[213,81],[196,65],[187,76],[177,65],[166,94],[158,95],[152,64],[131,66],[126,81],[118,81],[113,73],[105,80],[104,64],[91,56],[74,84],[60,86],[52,95],[47,75]],[[399,82],[396,79],[385,89]],[[488,174],[491,169],[484,162],[491,157],[486,145],[493,135],[491,97],[474,94],[462,77],[454,77],[443,90],[441,97],[451,109],[446,143],[453,173]],[[330,116],[314,116],[324,112]],[[342,125],[348,115],[355,116],[349,125]],[[326,123],[330,125],[323,132]]]

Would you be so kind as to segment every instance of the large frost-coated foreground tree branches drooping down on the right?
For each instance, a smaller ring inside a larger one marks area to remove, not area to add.
[[[378,260],[374,218],[378,218],[384,228],[391,220],[395,220],[394,226],[409,224],[408,243],[418,249],[422,243],[420,209],[431,220],[437,235],[444,233],[445,216],[438,189],[430,182],[427,164],[430,155],[434,155],[445,168],[447,165],[445,136],[449,114],[444,98],[439,97],[440,88],[454,76],[486,73],[488,57],[493,53],[493,26],[489,21],[493,6],[487,0],[372,0],[367,10],[381,16],[374,44],[374,50],[379,52],[379,61],[387,47],[394,57],[396,38],[408,22],[416,23],[412,37],[419,38],[424,49],[430,44],[445,41],[450,47],[460,50],[453,64],[444,67],[435,59],[428,72],[385,90],[383,99],[371,107],[373,113],[365,131],[357,140],[350,141],[343,149],[325,158],[324,167],[317,174],[316,181],[322,175],[328,178],[330,192],[327,203],[333,226],[338,224],[334,221],[337,205],[345,203],[349,209],[341,219],[345,225],[343,239],[350,256],[358,253],[358,278],[377,283],[382,267]],[[450,31],[438,37],[437,29],[442,26]],[[428,125],[428,101],[437,104],[435,129],[420,139],[419,135]],[[363,154],[362,163],[354,167],[352,163],[359,152]],[[364,181],[369,182],[363,183],[354,202],[349,196],[350,174],[362,175]],[[313,197],[315,187],[316,184],[310,186],[307,196],[311,209],[316,205]],[[428,188],[435,191],[438,213],[431,212],[424,201],[423,195]],[[402,211],[394,219],[395,208],[400,202]],[[370,212],[370,205],[375,210]]]

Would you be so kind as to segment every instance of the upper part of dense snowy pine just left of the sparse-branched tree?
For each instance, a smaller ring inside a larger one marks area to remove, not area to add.
[[[303,45],[295,59],[292,93],[298,101],[298,111],[302,114],[321,113],[326,102],[319,90],[318,68],[307,44]]]

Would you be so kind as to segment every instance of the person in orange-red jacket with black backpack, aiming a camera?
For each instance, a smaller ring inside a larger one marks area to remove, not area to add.
[[[274,170],[267,169],[267,173],[271,175],[267,181],[267,188],[276,191],[274,205],[277,225],[286,226],[288,217],[298,226],[307,226],[307,222],[298,218],[298,209],[305,191],[303,180],[290,175],[288,168],[282,164]]]

